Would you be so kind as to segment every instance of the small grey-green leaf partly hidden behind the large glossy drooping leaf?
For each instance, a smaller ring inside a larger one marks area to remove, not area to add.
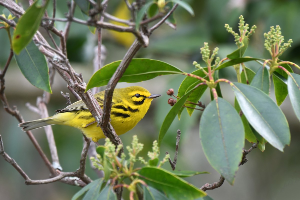
[[[250,85],[269,95],[270,84],[270,73],[268,69],[266,67],[260,67]]]

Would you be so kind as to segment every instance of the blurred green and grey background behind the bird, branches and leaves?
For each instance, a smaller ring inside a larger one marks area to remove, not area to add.
[[[118,10],[120,9],[120,2],[118,0],[110,1],[107,11],[118,15],[120,13],[120,10]],[[227,33],[224,24],[228,23],[235,31],[238,31],[238,17],[242,14],[250,27],[254,24],[257,26],[256,33],[250,37],[249,47],[245,53],[246,56],[270,58],[269,53],[263,47],[263,33],[267,32],[270,26],[280,25],[285,40],[287,41],[291,38],[294,41],[292,47],[281,56],[281,59],[300,64],[298,57],[300,51],[300,12],[298,11],[300,1],[188,0],[187,2],[193,7],[195,16],[190,16],[186,10],[178,7],[175,12],[177,30],[175,31],[165,24],[162,25],[150,37],[149,47],[141,49],[136,57],[158,59],[173,64],[186,72],[192,72],[195,70],[192,62],[201,62],[199,49],[204,42],[208,42],[211,49],[218,46],[220,48],[218,56],[221,58],[226,57],[227,54],[236,49],[233,42],[234,38]],[[57,7],[57,17],[64,17],[64,13],[67,12],[66,1],[57,1]],[[1,10],[5,14],[8,13],[3,7],[0,7]],[[52,13],[51,3],[48,11]],[[82,18],[79,9],[76,9],[76,16]],[[58,30],[63,30],[64,23],[57,22],[55,25]],[[43,29],[40,29],[40,31],[44,33]],[[3,69],[9,55],[9,43],[6,34],[4,29],[0,30],[1,69]],[[126,42],[122,42],[124,38],[120,40],[119,36],[106,30],[104,30],[103,34],[103,44],[107,48],[105,63],[121,60],[128,49],[128,46],[124,46]],[[128,39],[130,36],[125,38]],[[85,82],[89,80],[93,73],[92,60],[96,42],[97,37],[91,34],[87,27],[75,23],[71,25],[67,41],[68,58],[76,72],[82,73]],[[202,64],[202,66],[204,65]],[[255,62],[248,62],[246,66],[254,71],[259,67]],[[299,73],[298,70],[295,71]],[[220,76],[235,81],[235,73],[232,67],[222,69]],[[130,145],[132,136],[137,134],[140,142],[145,144],[143,155],[141,154],[141,156],[146,157],[147,152],[151,149],[152,142],[158,138],[162,121],[171,109],[167,104],[169,96],[167,96],[166,91],[169,88],[174,88],[177,92],[183,79],[184,76],[180,75],[160,76],[136,84],[118,84],[117,87],[119,88],[128,85],[140,85],[147,88],[152,94],[162,94],[162,97],[153,101],[145,118],[134,129],[121,136],[125,146]],[[25,104],[29,102],[35,105],[36,97],[42,95],[43,91],[27,82],[16,66],[15,61],[9,66],[5,80],[5,94],[10,106],[16,105],[26,121],[38,119],[39,116],[30,111]],[[68,92],[66,85],[61,77],[56,74],[52,87],[53,94],[48,106],[49,115],[53,115],[55,113],[54,110],[66,106],[65,99],[60,94],[60,91]],[[221,84],[221,88],[223,97],[233,103],[233,93],[229,85]],[[274,92],[271,92],[271,96],[274,97]],[[72,102],[75,101],[73,97],[71,100]],[[203,103],[208,104],[210,101],[209,93],[206,93],[201,100]],[[225,181],[222,187],[207,191],[213,199],[299,199],[300,160],[298,155],[300,154],[300,145],[298,144],[300,143],[300,135],[298,133],[300,124],[293,114],[288,97],[280,107],[289,121],[292,137],[291,145],[284,149],[284,153],[268,144],[263,153],[255,149],[247,155],[248,162],[238,170],[233,186],[230,186]],[[220,178],[220,175],[212,169],[202,152],[199,140],[200,115],[201,112],[194,112],[193,116],[189,117],[185,111],[180,121],[175,119],[161,147],[161,157],[164,157],[166,151],[169,151],[171,157],[173,157],[176,130],[180,129],[182,131],[176,170],[197,170],[211,173],[186,179],[196,185],[196,187],[202,187],[206,183],[217,182]],[[0,109],[0,119],[0,134],[6,153],[16,160],[30,178],[34,180],[48,178],[49,172],[46,166],[26,134],[18,127],[16,119],[7,114],[4,109]],[[65,172],[75,171],[79,167],[80,153],[82,151],[81,133],[79,130],[71,127],[55,125],[52,128],[61,166]],[[34,130],[33,133],[50,158],[44,130]],[[104,141],[101,140],[100,143],[103,144]],[[248,142],[246,142],[246,147],[250,147]],[[164,167],[171,169],[168,163]],[[97,178],[89,163],[87,163],[86,173],[92,179]],[[60,182],[26,186],[24,179],[19,173],[0,158],[1,200],[71,199],[79,189],[79,187]]]

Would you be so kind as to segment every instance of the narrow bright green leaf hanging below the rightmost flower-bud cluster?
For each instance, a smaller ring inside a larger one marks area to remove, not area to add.
[[[288,64],[283,64],[281,66],[286,68],[289,72],[293,73],[292,68]],[[286,85],[288,75],[282,69],[279,68],[277,68],[275,72],[276,74],[273,73],[274,92],[275,92],[277,105],[280,106],[288,94],[287,85]],[[280,74],[281,76],[277,76],[277,74]],[[282,79],[282,77],[284,79]]]

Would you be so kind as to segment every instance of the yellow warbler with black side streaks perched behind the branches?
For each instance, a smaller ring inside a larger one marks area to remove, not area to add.
[[[94,95],[101,108],[104,104],[104,91]],[[118,135],[131,130],[145,116],[153,98],[160,94],[150,94],[140,86],[115,89],[113,92],[110,123]],[[53,124],[67,125],[78,128],[82,133],[97,142],[105,138],[95,118],[91,115],[85,103],[80,100],[64,109],[57,110],[52,117],[27,121],[19,124],[23,131],[33,130]]]

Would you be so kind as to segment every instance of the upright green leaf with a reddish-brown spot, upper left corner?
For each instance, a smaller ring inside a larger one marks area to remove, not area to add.
[[[21,16],[13,32],[13,51],[19,54],[31,41],[38,30],[49,0],[41,5],[41,0],[35,1]]]

